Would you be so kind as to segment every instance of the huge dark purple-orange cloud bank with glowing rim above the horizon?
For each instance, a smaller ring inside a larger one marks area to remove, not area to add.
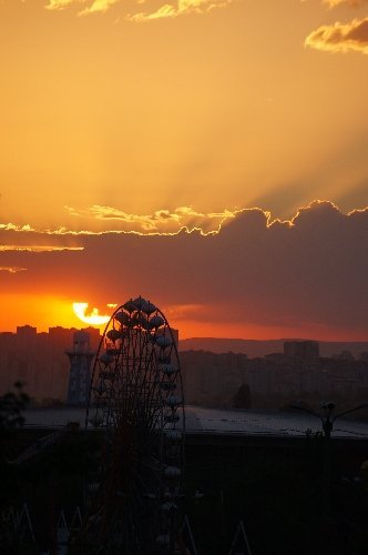
[[[262,326],[264,336],[270,329],[316,339],[368,334],[368,208],[344,214],[316,201],[290,221],[243,210],[206,235],[43,234],[40,244],[45,238],[83,250],[0,253],[1,266],[28,269],[17,276],[19,294],[42,290],[99,305],[142,294],[167,307],[173,325],[196,322],[200,335],[208,323],[218,336],[234,326]]]

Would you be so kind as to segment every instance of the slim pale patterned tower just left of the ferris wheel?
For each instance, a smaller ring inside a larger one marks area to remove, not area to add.
[[[84,405],[91,384],[91,364],[95,351],[90,346],[90,334],[79,331],[73,336],[73,347],[65,351],[70,360],[70,374],[68,384],[68,403],[71,405]]]

